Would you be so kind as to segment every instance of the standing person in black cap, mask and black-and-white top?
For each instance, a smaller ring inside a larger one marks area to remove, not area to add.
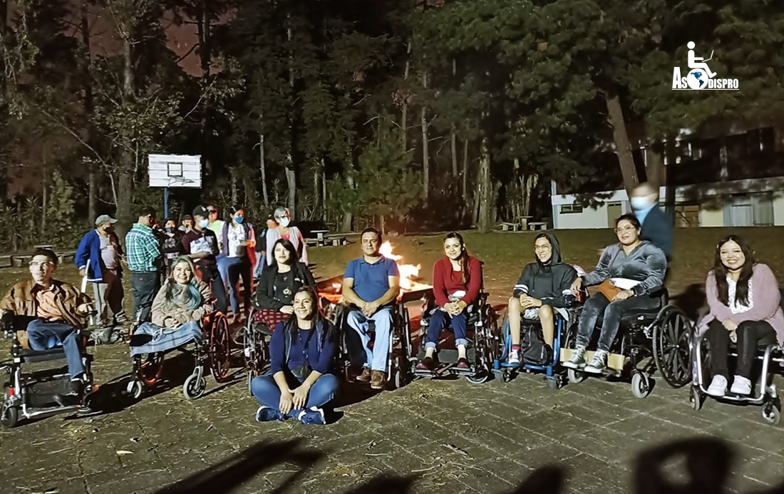
[[[196,206],[194,229],[183,235],[183,248],[201,272],[201,281],[210,285],[212,295],[216,299],[216,307],[226,314],[228,311],[226,284],[223,278],[220,278],[220,271],[216,265],[216,256],[220,248],[215,232],[208,228],[208,216],[209,212],[204,206]]]

